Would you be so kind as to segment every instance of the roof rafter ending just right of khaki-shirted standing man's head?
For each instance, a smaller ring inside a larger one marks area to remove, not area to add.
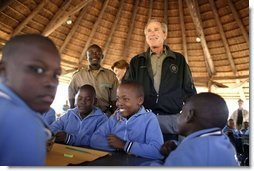
[[[115,20],[114,20],[114,24],[113,24],[113,26],[112,26],[112,28],[111,28],[111,30],[110,30],[110,34],[109,34],[109,36],[108,36],[107,42],[105,43],[104,52],[103,52],[103,54],[104,54],[103,60],[104,60],[105,57],[107,56],[108,49],[109,49],[109,45],[110,45],[110,43],[111,43],[111,41],[112,41],[112,38],[113,38],[113,35],[114,35],[114,33],[115,33],[116,27],[117,27],[118,22],[119,22],[119,20],[120,20],[120,16],[121,16],[121,14],[122,14],[123,5],[124,5],[124,0],[121,0],[120,5],[119,5],[119,7],[118,7],[117,14],[116,14],[116,18],[115,18]],[[103,63],[103,60],[102,60],[102,63]]]

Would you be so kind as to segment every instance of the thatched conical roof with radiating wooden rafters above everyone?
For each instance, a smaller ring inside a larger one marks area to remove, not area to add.
[[[87,64],[85,52],[93,43],[102,47],[106,68],[119,59],[130,61],[147,49],[145,24],[158,18],[168,25],[167,43],[185,56],[196,87],[225,99],[249,99],[248,0],[1,2],[0,51],[17,34],[48,36],[62,56],[62,83]]]

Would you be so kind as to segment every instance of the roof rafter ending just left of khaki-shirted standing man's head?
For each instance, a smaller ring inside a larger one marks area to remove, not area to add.
[[[87,39],[87,41],[86,41],[86,45],[85,45],[85,47],[84,47],[84,49],[83,49],[83,51],[82,51],[82,53],[81,53],[81,55],[80,55],[78,66],[81,66],[81,63],[82,63],[82,60],[84,59],[86,50],[87,50],[88,46],[90,46],[91,40],[92,40],[92,38],[94,37],[94,34],[95,34],[96,30],[97,30],[97,27],[98,27],[99,23],[100,23],[101,20],[102,20],[102,17],[103,17],[103,15],[104,15],[105,9],[106,9],[107,6],[108,6],[108,2],[109,2],[109,0],[106,0],[106,1],[104,2],[103,7],[102,7],[102,10],[100,11],[100,14],[99,14],[98,18],[97,18],[95,24],[93,25],[92,32],[90,33],[90,35],[89,35],[89,37],[88,37],[88,39]]]

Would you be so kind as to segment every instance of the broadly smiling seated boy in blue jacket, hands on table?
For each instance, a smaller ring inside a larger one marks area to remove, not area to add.
[[[118,109],[91,138],[91,147],[161,159],[163,144],[159,122],[154,113],[143,106],[144,91],[139,83],[126,82],[117,88]]]

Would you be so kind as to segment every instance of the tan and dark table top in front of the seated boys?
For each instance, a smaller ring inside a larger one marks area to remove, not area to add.
[[[48,166],[140,166],[152,159],[137,157],[122,151],[106,152],[55,143],[47,153]]]

